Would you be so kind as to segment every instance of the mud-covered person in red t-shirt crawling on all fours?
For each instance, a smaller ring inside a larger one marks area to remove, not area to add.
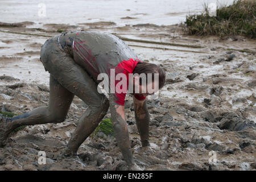
[[[114,135],[123,159],[131,170],[139,167],[134,162],[131,151],[131,143],[125,120],[125,96],[127,89],[122,92],[106,94],[98,92],[98,75],[105,73],[110,76],[110,70],[126,75],[127,87],[132,82],[135,119],[141,137],[142,148],[150,146],[148,141],[148,129],[150,115],[147,111],[146,97],[147,88],[158,85],[160,89],[164,85],[165,73],[155,64],[145,63],[138,59],[137,55],[117,36],[104,32],[81,31],[66,32],[53,36],[43,44],[40,52],[49,78],[49,104],[38,107],[27,113],[13,118],[0,117],[0,145],[4,146],[11,131],[20,126],[38,125],[45,123],[60,123],[67,116],[69,106],[76,95],[88,105],[82,114],[79,124],[72,134],[67,147],[63,150],[63,156],[77,154],[77,150],[86,138],[96,129],[102,118],[106,115],[109,107],[113,123]],[[129,74],[134,77],[129,79]],[[137,75],[135,73],[138,73]],[[141,75],[146,77],[146,85],[143,84]],[[155,81],[154,75],[158,75]],[[112,82],[110,79],[109,82]],[[114,80],[115,86],[117,81]],[[144,90],[144,92],[142,92]]]

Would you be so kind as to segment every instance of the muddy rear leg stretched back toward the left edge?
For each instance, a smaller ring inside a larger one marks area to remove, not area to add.
[[[49,105],[37,107],[27,113],[8,119],[9,122],[6,125],[5,133],[2,133],[2,140],[6,139],[11,131],[19,126],[63,122],[67,116],[73,97],[74,95],[72,92],[69,92],[69,90],[61,86],[53,76],[50,76]],[[2,131],[4,130],[2,129]]]

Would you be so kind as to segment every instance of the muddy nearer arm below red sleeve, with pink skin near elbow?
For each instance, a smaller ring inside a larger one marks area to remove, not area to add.
[[[127,165],[131,167],[134,164],[134,159],[133,153],[131,152],[131,143],[125,120],[125,106],[116,104],[113,96],[110,96],[109,101],[115,139],[122,152],[123,159]]]

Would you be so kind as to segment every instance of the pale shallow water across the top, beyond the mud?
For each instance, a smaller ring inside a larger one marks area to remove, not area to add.
[[[112,21],[119,26],[125,24],[153,23],[176,24],[185,20],[189,13],[200,13],[204,3],[216,0],[74,0],[74,1],[0,1],[0,22],[36,23],[87,23]],[[233,0],[222,0],[221,5],[228,5]],[[40,3],[46,5],[46,16],[39,15]],[[121,19],[130,16],[135,19]],[[36,26],[40,26],[37,24]]]

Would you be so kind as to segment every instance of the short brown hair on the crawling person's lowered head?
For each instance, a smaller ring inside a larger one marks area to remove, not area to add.
[[[141,73],[152,74],[152,80],[154,80],[154,74],[153,73],[159,73],[159,89],[164,86],[164,82],[166,81],[166,73],[163,71],[162,68],[158,67],[158,65],[152,64],[152,63],[144,63],[139,61],[136,65],[136,67],[133,70],[133,74],[138,73],[139,75]],[[147,83],[147,80],[146,80]],[[142,78],[140,78],[139,84],[142,84]]]

